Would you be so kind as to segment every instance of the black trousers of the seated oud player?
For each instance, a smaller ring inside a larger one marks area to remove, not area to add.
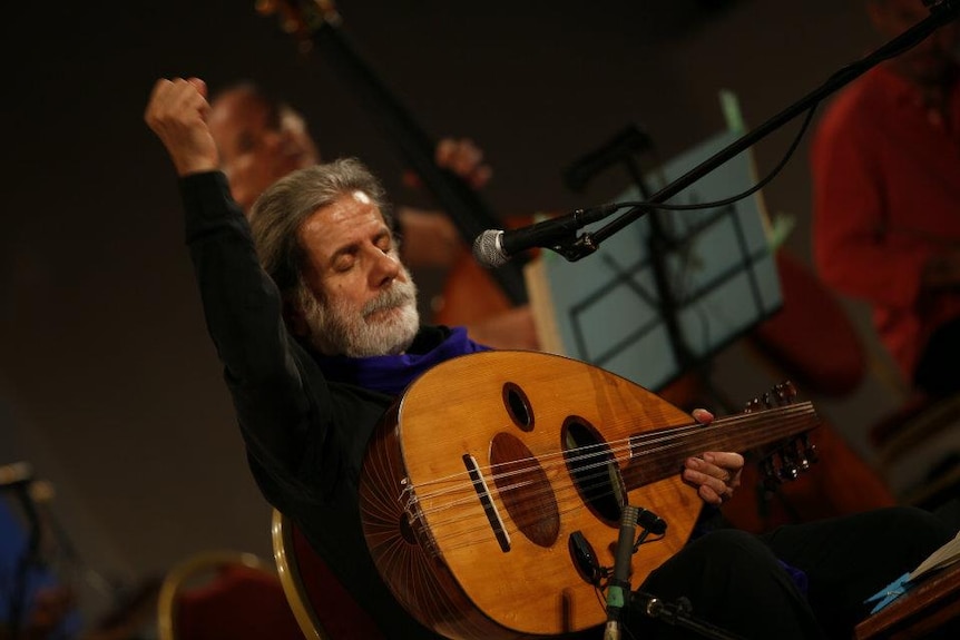
[[[690,542],[639,591],[668,603],[684,598],[695,619],[750,640],[850,640],[869,613],[863,601],[954,534],[935,515],[902,506],[782,526],[762,536],[718,530]],[[784,562],[805,573],[805,592]],[[634,598],[625,610],[624,640],[704,638],[650,618],[640,609],[644,602]]]

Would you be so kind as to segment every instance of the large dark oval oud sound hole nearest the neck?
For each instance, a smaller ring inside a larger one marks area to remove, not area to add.
[[[564,459],[580,499],[588,509],[616,526],[626,505],[626,488],[613,451],[600,433],[579,416],[564,422]]]

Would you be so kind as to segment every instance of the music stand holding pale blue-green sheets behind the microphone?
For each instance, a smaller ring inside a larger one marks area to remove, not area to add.
[[[729,145],[714,136],[646,181],[669,183]],[[745,151],[668,200],[719,200],[755,184]],[[638,186],[615,201],[641,199]],[[652,211],[574,265],[543,252],[526,267],[541,347],[658,391],[783,304],[760,193],[717,209]]]

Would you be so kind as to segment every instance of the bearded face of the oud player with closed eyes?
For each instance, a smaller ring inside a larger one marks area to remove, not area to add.
[[[301,226],[306,252],[302,326],[327,355],[402,353],[420,325],[417,287],[366,194],[341,196]]]

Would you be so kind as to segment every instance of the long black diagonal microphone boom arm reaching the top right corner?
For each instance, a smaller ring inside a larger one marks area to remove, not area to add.
[[[893,58],[907,49],[918,45],[923,39],[925,39],[930,33],[932,33],[937,28],[942,27],[943,24],[956,20],[958,14],[960,14],[960,0],[924,0],[924,4],[930,8],[930,16],[898,36],[893,38],[874,52],[869,56],[862,58],[861,60],[848,65],[846,67],[841,68],[839,71],[833,73],[827,80],[821,85],[819,88],[814,89],[805,97],[801,98],[776,116],[770,118],[766,122],[761,125],[760,127],[747,131],[743,137],[733,141],[727,147],[721,149],[653,196],[648,198],[648,203],[634,207],[626,211],[625,214],[617,217],[611,223],[605,225],[604,227],[597,229],[594,233],[585,232],[578,238],[576,238],[572,243],[567,246],[557,247],[555,250],[562,255],[569,262],[577,262],[592,253],[595,253],[600,243],[603,243],[608,237],[613,236],[617,232],[621,230],[624,227],[634,223],[650,209],[656,207],[652,205],[656,205],[659,203],[665,203],[667,199],[677,195],[682,190],[686,189],[698,179],[709,174],[737,154],[748,149],[757,141],[762,140],[773,131],[781,128],[783,125],[803,114],[804,111],[814,108],[819,102],[821,102],[826,96],[836,91],[844,85],[851,82],[859,76],[863,75],[865,71],[876,66],[879,62],[886,60],[889,58]]]

